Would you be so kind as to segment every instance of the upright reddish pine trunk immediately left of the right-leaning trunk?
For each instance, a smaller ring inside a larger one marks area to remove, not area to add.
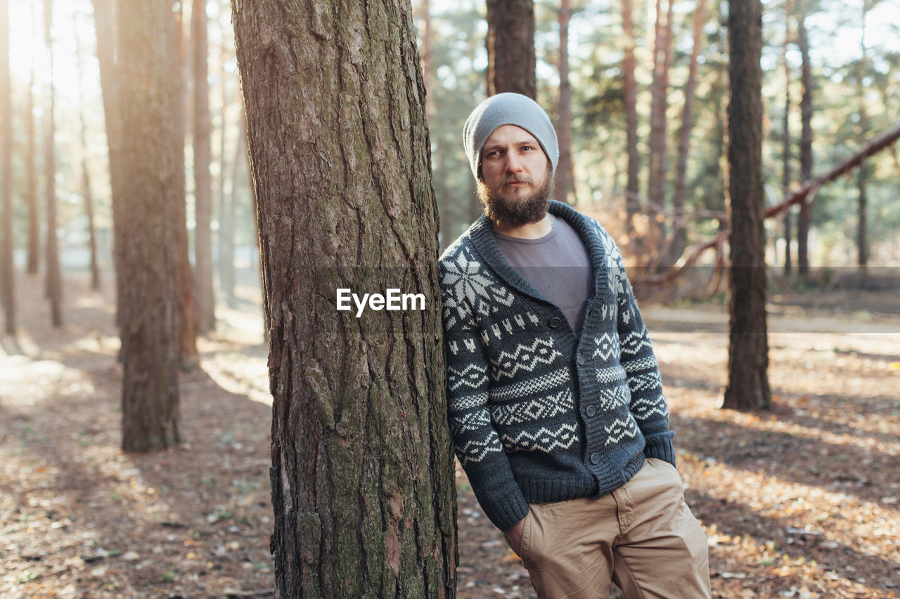
[[[669,106],[669,67],[671,65],[672,19],[674,0],[667,0],[662,13],[662,0],[656,0],[656,24],[653,41],[653,81],[650,84],[650,173],[647,184],[647,214],[650,217],[649,246],[658,253],[665,237],[665,224],[658,213],[666,206],[666,171],[668,169],[666,111]]]

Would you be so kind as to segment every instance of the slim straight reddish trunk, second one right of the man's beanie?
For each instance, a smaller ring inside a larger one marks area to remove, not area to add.
[[[628,142],[628,183],[626,186],[626,230],[631,237],[635,230],[635,215],[641,211],[641,156],[637,151],[637,82],[635,80],[635,23],[632,21],[631,0],[622,0],[622,30],[625,33],[625,58],[622,60],[625,123]]]

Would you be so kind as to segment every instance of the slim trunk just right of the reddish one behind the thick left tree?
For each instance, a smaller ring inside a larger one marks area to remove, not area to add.
[[[206,0],[193,0],[191,47],[193,49],[193,201],[196,228],[193,231],[196,259],[197,332],[206,335],[216,326],[215,291],[212,289],[212,233],[210,178],[210,85],[206,79],[208,60]]]

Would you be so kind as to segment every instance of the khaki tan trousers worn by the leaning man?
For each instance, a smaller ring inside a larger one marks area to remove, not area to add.
[[[650,458],[598,498],[531,504],[522,562],[541,599],[709,597],[707,537],[684,502],[678,471]]]

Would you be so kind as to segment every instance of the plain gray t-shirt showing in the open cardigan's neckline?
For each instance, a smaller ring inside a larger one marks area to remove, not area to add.
[[[553,219],[554,228],[538,239],[509,237],[494,231],[500,253],[546,299],[563,310],[575,336],[581,336],[584,307],[594,278],[590,256],[581,237],[563,219]]]

